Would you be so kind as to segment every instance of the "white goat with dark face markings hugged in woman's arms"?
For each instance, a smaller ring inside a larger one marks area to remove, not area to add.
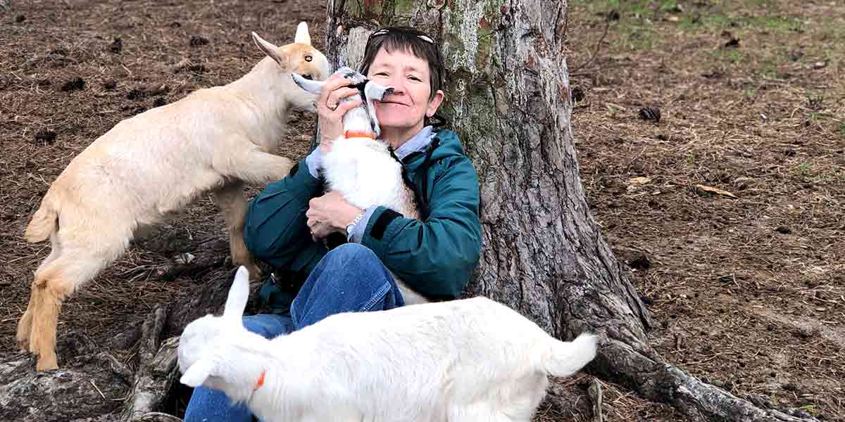
[[[414,192],[402,178],[402,164],[390,154],[389,144],[379,139],[379,119],[375,114],[373,101],[382,100],[393,92],[392,87],[382,86],[369,80],[352,68],[339,68],[352,80],[352,86],[360,91],[341,99],[361,99],[361,106],[346,111],[343,115],[343,132],[331,144],[329,153],[323,156],[323,174],[327,190],[341,192],[348,203],[357,208],[383,206],[409,219],[418,219],[419,212]],[[324,81],[308,80],[292,73],[293,80],[309,93],[319,95]],[[361,98],[363,97],[363,98]],[[390,271],[390,270],[389,270]],[[399,287],[406,305],[428,302],[423,295],[411,289],[404,281],[390,272]]]

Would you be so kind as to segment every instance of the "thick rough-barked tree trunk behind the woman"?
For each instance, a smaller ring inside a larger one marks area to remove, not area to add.
[[[588,371],[691,420],[802,420],[756,408],[663,363],[651,321],[586,206],[564,57],[562,0],[329,0],[326,55],[358,68],[377,26],[433,35],[441,114],[481,180],[483,252],[470,295],[512,306],[558,338],[602,335]],[[807,417],[806,420],[812,420]]]

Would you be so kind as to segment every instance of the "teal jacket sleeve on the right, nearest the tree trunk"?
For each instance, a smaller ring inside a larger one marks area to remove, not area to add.
[[[377,207],[361,239],[412,289],[453,299],[481,256],[478,176],[466,157],[449,160],[429,181],[425,222]]]

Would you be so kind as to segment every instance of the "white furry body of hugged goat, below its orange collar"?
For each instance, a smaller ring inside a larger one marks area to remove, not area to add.
[[[339,139],[323,157],[323,167],[330,190],[341,192],[357,208],[381,205],[402,213],[402,167],[383,143]]]

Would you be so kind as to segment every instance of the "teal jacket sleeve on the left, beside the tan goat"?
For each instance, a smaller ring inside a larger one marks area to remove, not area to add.
[[[249,203],[244,219],[243,241],[249,252],[276,268],[313,267],[322,254],[308,234],[305,211],[308,201],[322,192],[323,182],[311,175],[305,159],[284,179],[267,185]]]

